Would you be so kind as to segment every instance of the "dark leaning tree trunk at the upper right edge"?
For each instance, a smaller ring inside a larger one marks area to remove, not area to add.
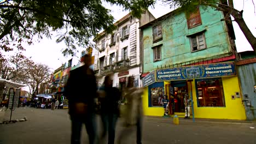
[[[243,20],[242,11],[240,12],[240,14],[234,11],[233,13],[231,13],[231,15],[235,18],[235,21],[237,22],[238,26],[240,27],[243,34],[245,34],[246,39],[252,46],[254,52],[256,53],[256,38],[254,37],[250,29],[247,27],[245,20]]]

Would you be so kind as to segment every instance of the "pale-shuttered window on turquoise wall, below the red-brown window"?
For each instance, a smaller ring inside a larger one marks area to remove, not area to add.
[[[191,51],[198,51],[206,49],[205,34],[200,33],[190,37]]]

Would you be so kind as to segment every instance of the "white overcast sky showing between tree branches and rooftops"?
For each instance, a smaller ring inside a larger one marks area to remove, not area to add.
[[[256,0],[245,0],[245,4],[243,4],[243,0],[234,0],[234,4],[237,10],[244,10],[243,18],[245,19],[247,26],[251,29],[253,34],[256,35],[256,14],[254,13],[254,5],[252,1],[254,1],[256,4]],[[112,10],[112,14],[115,17],[115,20],[119,20],[121,17],[128,14],[128,11],[123,11],[122,8],[117,6],[107,5],[107,8]],[[161,3],[157,3],[155,5],[155,9],[149,8],[149,11],[157,18],[170,12],[171,9]],[[241,52],[252,50],[251,45],[248,44],[248,41],[246,40],[236,22],[233,22],[233,25],[236,34],[237,51]],[[40,40],[40,43],[34,43],[31,46],[26,46],[26,51],[24,53],[26,56],[32,57],[33,61],[35,62],[43,63],[49,65],[50,68],[57,69],[61,66],[62,63],[67,62],[71,57],[63,57],[61,50],[65,48],[66,45],[64,43],[56,44],[55,40],[56,38],[51,40],[46,38]],[[78,50],[82,51],[83,49],[78,48]],[[77,63],[78,57],[80,57],[80,53],[77,53],[77,58],[75,58],[73,64]]]

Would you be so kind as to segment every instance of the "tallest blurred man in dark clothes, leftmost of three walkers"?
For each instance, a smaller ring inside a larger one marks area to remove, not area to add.
[[[96,98],[97,84],[94,71],[89,68],[91,57],[82,57],[81,67],[70,71],[65,87],[65,95],[69,104],[71,118],[71,143],[80,143],[82,125],[85,124],[89,136],[89,143],[96,141],[96,124],[94,112],[94,99]]]

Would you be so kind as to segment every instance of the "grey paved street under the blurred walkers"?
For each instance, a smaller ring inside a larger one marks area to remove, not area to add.
[[[5,113],[8,118],[9,113]],[[71,124],[67,110],[16,109],[14,119],[26,116],[28,121],[1,124],[0,143],[69,143]],[[196,119],[197,120],[197,119]],[[255,123],[191,122],[181,119],[179,125],[171,118],[146,117],[143,127],[143,143],[256,143]],[[117,129],[120,131],[120,121]],[[135,131],[125,143],[136,143]],[[88,138],[83,129],[83,143]],[[122,143],[122,144],[123,144]]]

